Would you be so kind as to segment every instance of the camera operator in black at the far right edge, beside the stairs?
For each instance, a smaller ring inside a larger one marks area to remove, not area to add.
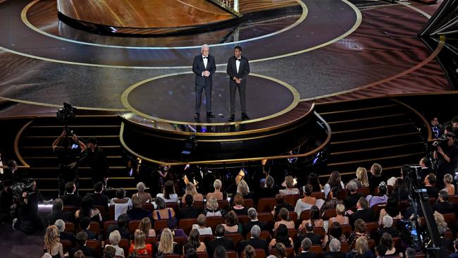
[[[433,143],[436,144],[437,150],[435,150],[433,157],[438,160],[438,168],[436,171],[436,178],[438,178],[436,187],[438,189],[444,188],[444,175],[450,173],[454,175],[454,171],[457,168],[457,155],[458,146],[456,144],[456,136],[454,133],[447,133],[444,140]]]

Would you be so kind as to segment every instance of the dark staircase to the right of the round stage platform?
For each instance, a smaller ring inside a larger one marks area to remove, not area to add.
[[[395,99],[318,104],[316,111],[332,131],[323,181],[330,172],[339,171],[346,182],[359,166],[369,171],[373,163],[383,167],[385,176],[396,176],[403,164],[418,164],[426,155],[428,123]]]

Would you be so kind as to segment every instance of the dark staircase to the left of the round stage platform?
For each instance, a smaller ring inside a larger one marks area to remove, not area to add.
[[[135,189],[135,178],[129,176],[126,168],[127,161],[120,146],[120,120],[117,115],[97,114],[77,116],[69,125],[78,136],[87,139],[97,137],[99,147],[108,157],[110,175],[108,187],[126,190]],[[17,151],[27,168],[28,176],[37,180],[39,190],[47,198],[58,196],[58,163],[52,152],[51,145],[62,133],[63,126],[55,117],[34,118],[26,123],[17,135]],[[89,167],[82,164],[78,168],[80,175],[80,194],[92,192],[92,180]]]

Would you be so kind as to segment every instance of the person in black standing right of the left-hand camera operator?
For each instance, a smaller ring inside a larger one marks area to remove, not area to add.
[[[91,168],[92,185],[100,181],[105,185],[109,175],[108,160],[104,151],[97,145],[97,139],[94,137],[90,137],[87,140],[85,161]]]

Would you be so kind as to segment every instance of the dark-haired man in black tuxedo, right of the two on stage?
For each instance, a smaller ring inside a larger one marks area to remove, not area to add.
[[[247,99],[245,90],[247,87],[247,75],[249,74],[249,63],[245,56],[242,56],[242,47],[235,46],[234,56],[228,60],[229,87],[230,87],[230,116],[229,121],[235,119],[235,94],[237,88],[240,94],[240,108],[242,119],[249,119],[247,114]]]

